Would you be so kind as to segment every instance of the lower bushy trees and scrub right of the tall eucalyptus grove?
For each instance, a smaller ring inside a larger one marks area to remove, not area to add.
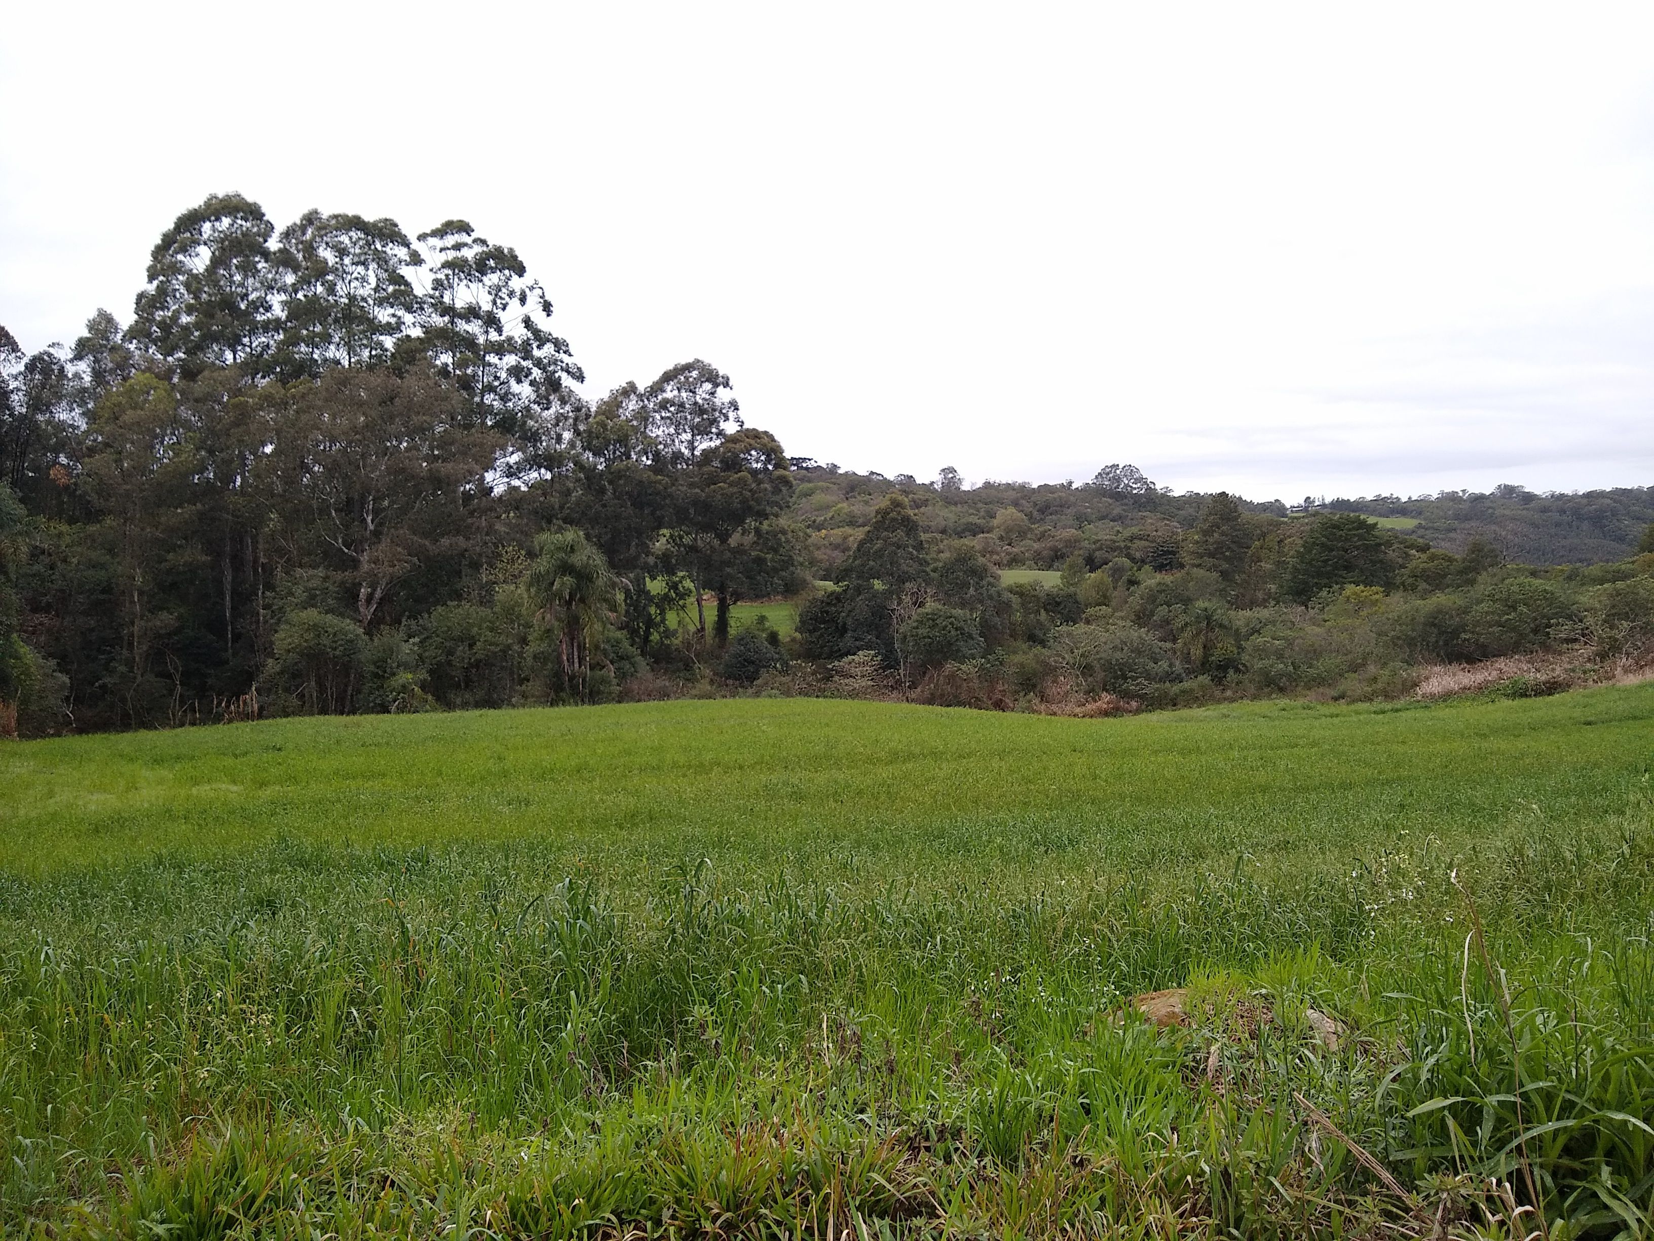
[[[1621,561],[1528,566],[1480,538],[1454,554],[1360,513],[1280,515],[1105,473],[1073,488],[1108,515],[1082,528],[1042,536],[1001,510],[989,529],[938,538],[920,518],[946,513],[938,490],[883,488],[837,589],[801,611],[799,654],[845,688],[1103,715],[1396,698],[1432,692],[1437,665],[1479,665],[1451,683],[1507,695],[1654,670],[1654,525]],[[1188,526],[1168,516],[1191,505]],[[1062,568],[997,568],[1019,539],[1068,548]]]

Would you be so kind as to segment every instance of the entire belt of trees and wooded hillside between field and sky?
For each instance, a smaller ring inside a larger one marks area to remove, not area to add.
[[[127,324],[0,328],[0,733],[734,692],[1107,713],[1522,657],[1528,692],[1654,637],[1654,490],[853,475],[700,359],[589,399],[551,319],[463,220],[278,232],[222,195]],[[754,599],[796,629],[736,622]]]

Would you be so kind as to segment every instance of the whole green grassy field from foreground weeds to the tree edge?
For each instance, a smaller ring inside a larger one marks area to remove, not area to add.
[[[1651,756],[1654,687],[8,745],[0,1226],[1642,1236]]]

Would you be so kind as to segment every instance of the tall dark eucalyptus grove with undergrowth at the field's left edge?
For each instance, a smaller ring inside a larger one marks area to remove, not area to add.
[[[590,700],[796,589],[789,462],[728,376],[592,402],[551,318],[463,220],[276,232],[217,195],[124,328],[31,354],[0,329],[7,720]]]

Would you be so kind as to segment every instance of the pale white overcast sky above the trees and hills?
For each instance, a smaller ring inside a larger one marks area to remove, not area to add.
[[[1153,10],[1153,12],[1145,12]],[[1654,5],[20,5],[0,323],[238,190],[468,218],[847,468],[1654,483]]]

